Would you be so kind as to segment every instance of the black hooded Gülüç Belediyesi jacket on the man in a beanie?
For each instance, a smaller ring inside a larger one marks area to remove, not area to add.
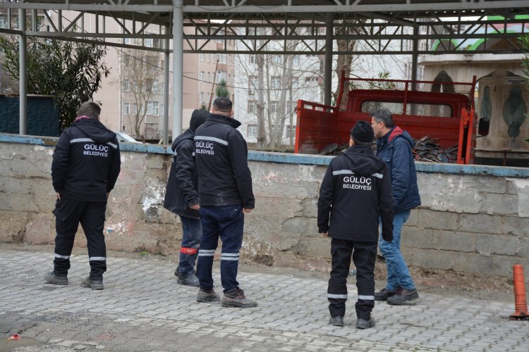
[[[333,158],[317,203],[320,233],[350,241],[377,241],[393,233],[391,176],[386,164],[367,146],[352,146]]]

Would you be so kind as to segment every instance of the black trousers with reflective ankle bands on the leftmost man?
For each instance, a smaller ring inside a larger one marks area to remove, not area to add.
[[[55,259],[54,272],[66,276],[70,269],[73,240],[79,227],[83,227],[88,247],[90,279],[101,280],[107,271],[107,247],[104,243],[104,216],[107,202],[75,201],[62,197],[55,204]]]

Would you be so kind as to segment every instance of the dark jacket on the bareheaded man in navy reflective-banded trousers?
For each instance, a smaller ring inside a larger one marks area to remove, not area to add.
[[[255,208],[248,147],[241,122],[211,114],[195,131],[195,160],[198,170],[200,206]]]

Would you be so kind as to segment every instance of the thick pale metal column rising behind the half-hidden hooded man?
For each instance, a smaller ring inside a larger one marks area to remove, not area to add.
[[[182,132],[183,0],[173,0],[173,136]]]

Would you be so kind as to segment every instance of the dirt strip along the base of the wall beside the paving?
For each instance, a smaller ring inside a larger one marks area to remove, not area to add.
[[[51,245],[32,244],[0,244],[0,251],[38,251],[53,253],[54,247]],[[86,249],[74,248],[75,254],[86,254]],[[159,261],[162,263],[177,263],[176,256],[151,254],[146,252],[129,253],[121,251],[109,251],[109,257],[135,258],[138,260]],[[51,260],[51,259],[50,259]],[[305,277],[312,279],[329,278],[327,272],[304,271],[293,268],[278,268],[257,263],[241,263],[241,272],[263,272],[276,275],[291,275],[292,277]],[[444,294],[447,296],[465,296],[466,298],[476,298],[494,301],[513,301],[512,278],[485,275],[470,275],[451,270],[426,270],[422,268],[410,268],[411,275],[420,292]],[[386,265],[382,258],[377,260],[375,268],[376,287],[384,287],[386,278]],[[354,277],[349,277],[349,282],[354,282]],[[527,282],[527,280],[525,280]],[[526,291],[529,287],[526,285]]]

